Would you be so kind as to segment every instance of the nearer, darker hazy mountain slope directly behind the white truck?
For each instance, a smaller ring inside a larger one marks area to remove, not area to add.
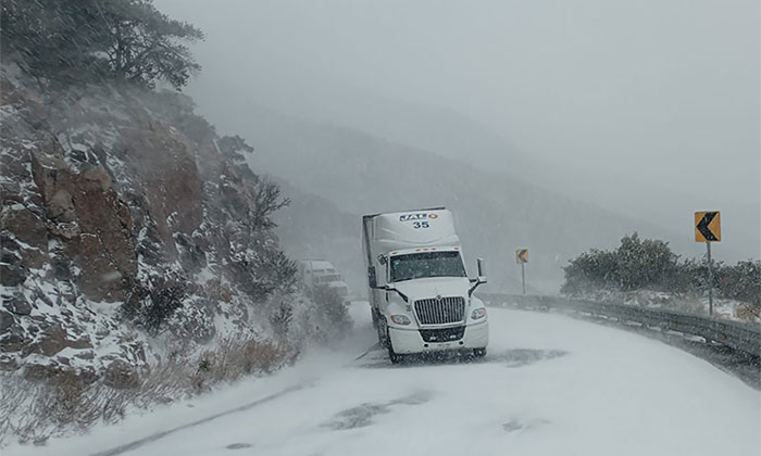
[[[531,182],[363,131],[271,115],[266,110],[260,114],[239,116],[248,128],[237,126],[255,138],[249,165],[267,169],[340,212],[358,214],[357,226],[359,214],[449,206],[467,261],[490,257],[494,288],[517,289],[520,273],[509,266],[517,248],[532,250],[529,290],[557,292],[565,261],[582,251],[613,246],[632,231],[668,233]],[[359,251],[359,230],[353,242]]]

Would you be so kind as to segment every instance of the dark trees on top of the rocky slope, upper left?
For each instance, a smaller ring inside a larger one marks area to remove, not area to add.
[[[203,33],[150,0],[5,0],[0,25],[3,59],[42,85],[165,81],[178,89],[200,69],[187,45]]]

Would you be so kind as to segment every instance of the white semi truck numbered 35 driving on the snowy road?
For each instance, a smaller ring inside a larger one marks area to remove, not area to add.
[[[467,278],[452,213],[446,207],[362,217],[370,309],[394,364],[410,354],[457,351],[486,355],[486,264]]]

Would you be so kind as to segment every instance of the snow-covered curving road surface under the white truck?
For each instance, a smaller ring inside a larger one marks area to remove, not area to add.
[[[759,392],[658,341],[492,308],[486,358],[392,366],[378,350],[355,359],[375,343],[355,306],[338,353],[3,455],[761,454]]]

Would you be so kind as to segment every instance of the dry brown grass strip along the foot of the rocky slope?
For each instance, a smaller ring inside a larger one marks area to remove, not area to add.
[[[271,373],[297,356],[298,350],[282,343],[230,338],[200,355],[175,349],[165,362],[134,377],[134,384],[88,382],[73,371],[61,371],[47,381],[4,373],[0,377],[0,444],[13,436],[20,443],[42,445],[62,431],[117,422],[130,409],[190,397],[245,376]]]

